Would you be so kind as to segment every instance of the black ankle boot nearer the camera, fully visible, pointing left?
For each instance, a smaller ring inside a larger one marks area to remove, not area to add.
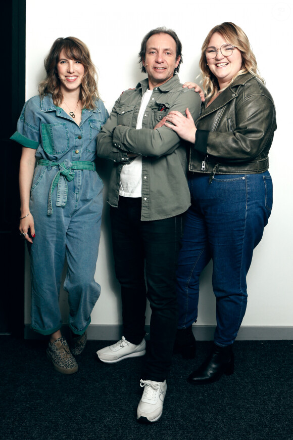
[[[223,374],[229,376],[234,373],[234,353],[232,344],[220,347],[214,344],[211,355],[187,379],[195,385],[216,382]]]

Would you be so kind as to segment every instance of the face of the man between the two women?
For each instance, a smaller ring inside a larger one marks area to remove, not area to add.
[[[167,33],[152,35],[146,42],[143,66],[148,73],[149,87],[164,84],[174,75],[180,56],[176,59],[176,42]]]

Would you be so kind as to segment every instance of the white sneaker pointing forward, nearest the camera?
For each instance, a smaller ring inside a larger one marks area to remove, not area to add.
[[[140,422],[156,422],[162,415],[163,403],[167,390],[166,380],[155,382],[140,379],[140,386],[144,386],[142,397],[137,407],[137,420]]]

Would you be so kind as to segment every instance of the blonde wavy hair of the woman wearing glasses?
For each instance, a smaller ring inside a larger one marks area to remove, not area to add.
[[[264,83],[264,79],[259,74],[256,58],[252,51],[246,33],[243,32],[242,29],[236,24],[225,22],[213,27],[213,29],[210,30],[202,46],[200,69],[203,76],[203,89],[207,94],[207,98],[213,97],[219,92],[218,80],[216,76],[210,71],[209,66],[207,65],[207,58],[205,54],[205,51],[209,46],[210,39],[212,38],[212,35],[216,32],[221,34],[222,37],[227,41],[227,43],[235,46],[241,52],[242,57],[241,69],[239,70],[239,72],[236,73],[236,75],[233,76],[230,83],[226,87],[228,87],[237,76],[244,75],[248,72],[257,76]]]

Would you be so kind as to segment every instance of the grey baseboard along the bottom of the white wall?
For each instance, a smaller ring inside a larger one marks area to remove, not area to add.
[[[192,330],[194,336],[199,341],[211,341],[214,339],[214,331],[216,326],[213,325],[194,325]],[[145,331],[150,332],[150,326],[145,326]],[[62,333],[64,336],[68,333],[68,325],[62,326]],[[90,340],[106,340],[114,341],[121,338],[122,325],[104,325],[91,324],[87,328],[87,338]],[[47,339],[47,336],[42,336],[35,333],[29,326],[25,325],[24,332],[25,339]],[[148,339],[148,336],[146,336]],[[252,341],[252,340],[280,340],[293,339],[293,326],[242,326],[238,332],[238,341]]]

